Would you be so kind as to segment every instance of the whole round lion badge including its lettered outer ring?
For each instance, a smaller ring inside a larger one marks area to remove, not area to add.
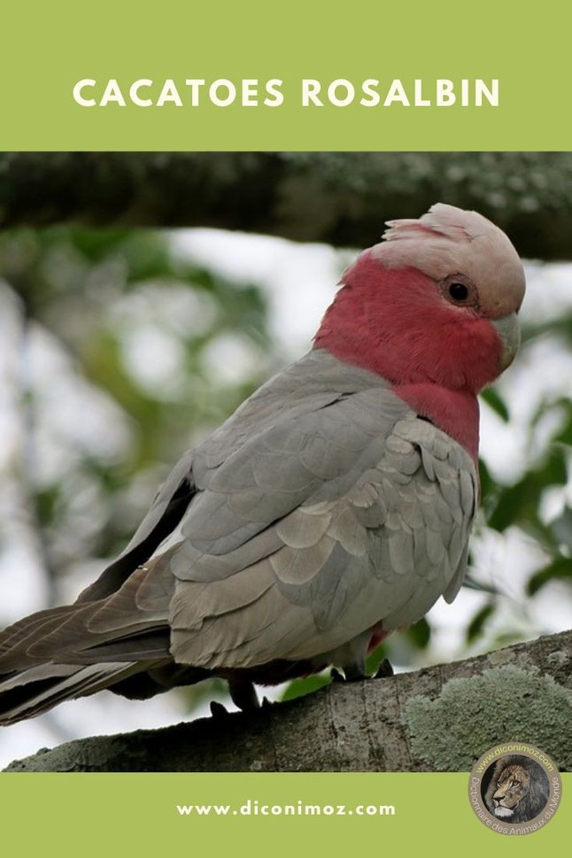
[[[531,834],[559,808],[560,772],[539,748],[521,742],[491,747],[475,762],[468,799],[481,822],[499,834]]]

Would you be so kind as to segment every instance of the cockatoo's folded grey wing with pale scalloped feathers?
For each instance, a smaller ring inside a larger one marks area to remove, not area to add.
[[[414,622],[458,573],[475,506],[468,454],[380,387],[201,477],[170,623],[175,659],[205,667],[311,658]]]

